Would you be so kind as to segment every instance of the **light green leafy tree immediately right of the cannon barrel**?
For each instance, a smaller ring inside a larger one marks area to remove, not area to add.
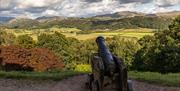
[[[134,60],[134,54],[140,49],[136,38],[123,38],[115,36],[109,42],[109,47],[113,54],[121,57],[125,64],[130,68]]]

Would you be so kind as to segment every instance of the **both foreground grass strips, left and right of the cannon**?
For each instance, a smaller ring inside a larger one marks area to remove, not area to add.
[[[75,75],[90,73],[90,70],[85,68],[85,71],[54,71],[54,72],[19,72],[19,71],[0,71],[0,78],[10,79],[32,79],[37,81],[55,80],[59,81]],[[160,74],[157,72],[137,72],[129,71],[129,79],[143,81],[151,84],[159,84],[165,86],[180,87],[180,73]]]

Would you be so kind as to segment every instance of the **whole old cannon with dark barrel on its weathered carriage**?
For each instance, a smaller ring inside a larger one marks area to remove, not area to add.
[[[123,60],[109,51],[102,36],[97,37],[96,43],[98,53],[91,56],[92,74],[89,74],[88,88],[91,91],[132,91]]]

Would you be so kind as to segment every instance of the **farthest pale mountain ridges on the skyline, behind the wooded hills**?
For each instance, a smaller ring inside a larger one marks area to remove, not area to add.
[[[156,13],[156,14],[145,14],[145,13],[140,13],[140,12],[131,12],[131,11],[122,11],[122,12],[116,12],[113,14],[104,14],[104,15],[98,15],[98,16],[94,16],[91,18],[95,18],[95,19],[120,19],[120,18],[127,18],[127,17],[134,17],[134,16],[161,16],[161,17],[176,17],[180,15],[180,11],[173,11],[173,12],[165,12],[165,13]],[[32,19],[32,20],[37,20],[39,22],[45,22],[45,21],[54,21],[54,20],[64,20],[67,19],[68,17],[64,17],[64,16],[41,16],[41,17],[37,17],[36,19]],[[74,17],[76,18],[76,17]],[[14,21],[15,20],[19,20],[20,18],[16,18],[16,17],[1,17],[0,16],[0,23],[7,23],[7,22],[11,22],[11,20]],[[25,18],[23,18],[25,19]],[[27,19],[31,19],[31,18],[27,18]]]

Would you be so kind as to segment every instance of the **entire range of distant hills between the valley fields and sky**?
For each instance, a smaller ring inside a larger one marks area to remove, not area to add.
[[[117,12],[89,18],[67,18],[62,16],[42,16],[36,19],[16,18],[11,19],[5,25],[9,28],[78,28],[81,30],[107,29],[115,30],[120,28],[152,28],[168,29],[174,17],[180,12],[167,12],[157,14],[144,14],[137,12]]]

